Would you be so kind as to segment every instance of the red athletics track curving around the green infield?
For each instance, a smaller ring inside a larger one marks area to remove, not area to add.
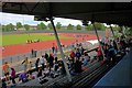
[[[64,45],[76,43],[76,40],[78,40],[79,42],[82,42],[82,37],[75,37],[75,35],[84,35],[84,41],[97,38],[96,35],[91,35],[91,34],[61,33],[61,35],[74,37],[73,40],[61,40],[61,43]],[[36,51],[51,48],[53,46],[53,43],[55,43],[55,45],[56,45],[55,40],[38,42],[38,43],[31,43],[31,44],[25,43],[25,44],[8,45],[8,46],[4,46],[4,51],[2,52],[2,57],[28,53],[28,52],[31,52],[32,48],[36,50]]]

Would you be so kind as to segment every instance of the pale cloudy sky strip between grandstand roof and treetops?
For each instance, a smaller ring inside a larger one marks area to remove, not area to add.
[[[0,24],[16,24],[16,22],[21,22],[22,24],[37,25],[40,22],[44,21],[34,21],[34,15],[25,15],[25,14],[13,14],[13,13],[3,13],[0,12]],[[73,25],[82,24],[79,20],[70,20],[70,19],[62,19],[55,18],[54,23],[61,22],[62,25],[68,25],[69,23]],[[50,22],[44,22],[46,25]]]

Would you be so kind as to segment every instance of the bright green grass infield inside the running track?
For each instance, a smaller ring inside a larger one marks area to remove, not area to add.
[[[9,35],[0,35],[2,36],[2,43],[0,46],[13,45],[13,44],[24,44],[28,40],[38,40],[40,41],[52,41],[55,40],[54,35],[43,35],[43,34],[9,34]],[[72,37],[59,36],[63,40],[72,40]]]

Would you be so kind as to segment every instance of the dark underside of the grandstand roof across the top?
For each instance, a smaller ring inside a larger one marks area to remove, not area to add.
[[[2,12],[132,26],[131,2],[3,2]]]

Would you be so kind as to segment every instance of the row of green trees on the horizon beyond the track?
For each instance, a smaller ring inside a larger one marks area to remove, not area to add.
[[[98,22],[96,22],[95,25],[96,25],[96,29],[97,29],[98,31],[105,31],[106,29],[110,29],[110,28],[108,28],[108,26],[105,26],[103,23],[98,23]],[[9,24],[7,24],[7,25],[1,25],[1,24],[0,24],[0,26],[1,26],[0,30],[2,30],[2,32],[18,31],[19,29],[23,29],[23,30],[25,30],[25,31],[33,30],[33,29],[32,29],[32,25],[29,25],[29,24],[23,24],[23,25],[22,25],[21,22],[16,22],[15,25],[13,25],[12,23],[9,23]],[[69,23],[67,26],[63,26],[63,25],[61,24],[61,22],[57,22],[55,26],[56,26],[56,30],[82,30],[82,29],[84,29],[84,30],[87,30],[87,31],[94,31],[92,24],[88,24],[88,25],[86,25],[86,26],[82,26],[82,25],[80,25],[80,24],[77,24],[77,25],[75,26],[75,25],[73,25],[73,24]],[[41,23],[38,23],[38,24],[35,26],[35,30],[53,30],[53,26],[52,26],[51,23],[48,23],[48,24],[46,25],[46,24],[44,24],[43,22],[41,22]],[[118,26],[118,25],[113,26],[113,30],[117,31],[117,32],[121,32],[121,31],[122,31],[122,30],[120,29],[120,26]],[[127,32],[127,34],[131,35],[131,34],[132,34],[132,28],[128,28],[128,30],[127,30],[125,32]]]

